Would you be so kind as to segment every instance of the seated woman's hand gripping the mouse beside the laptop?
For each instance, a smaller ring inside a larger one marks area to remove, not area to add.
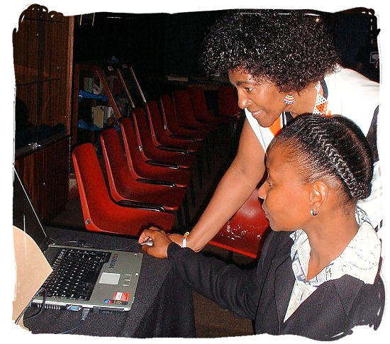
[[[142,250],[148,255],[152,255],[156,258],[167,258],[167,249],[172,240],[169,238],[165,231],[162,231],[155,227],[145,229],[140,235],[139,243],[143,243],[147,240],[153,240],[153,245],[143,245]]]

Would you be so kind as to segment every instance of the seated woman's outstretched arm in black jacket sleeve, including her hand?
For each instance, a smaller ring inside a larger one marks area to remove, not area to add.
[[[167,233],[154,227],[143,231],[141,236],[153,240],[153,245],[144,245],[143,251],[157,258],[168,258],[191,288],[239,316],[255,319],[260,295],[257,269],[241,270],[181,248],[172,243]]]

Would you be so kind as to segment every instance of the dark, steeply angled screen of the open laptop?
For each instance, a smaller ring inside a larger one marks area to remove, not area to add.
[[[13,226],[18,227],[30,235],[40,250],[44,251],[47,245],[45,231],[15,167],[13,167],[12,215]]]

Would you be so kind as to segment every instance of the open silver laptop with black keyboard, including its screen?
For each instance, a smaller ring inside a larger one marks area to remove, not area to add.
[[[143,254],[50,243],[15,167],[13,171],[13,225],[33,238],[53,269],[31,303],[72,311],[130,311]]]

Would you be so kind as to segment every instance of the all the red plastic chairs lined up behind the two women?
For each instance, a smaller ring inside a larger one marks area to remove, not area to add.
[[[87,230],[136,236],[153,225],[171,231],[181,207],[189,221],[187,191],[191,189],[194,157],[204,146],[208,131],[226,122],[221,118],[212,124],[204,116],[203,124],[208,126],[195,128],[198,123],[182,116],[180,123],[174,110],[177,94],[183,92],[173,92],[175,103],[168,95],[160,97],[162,113],[157,101],[147,101],[145,112],[133,109],[131,117],[120,120],[121,134],[115,128],[101,131],[109,191],[94,147],[87,143],[74,148],[72,157]],[[211,244],[257,257],[267,228],[254,192]]]

